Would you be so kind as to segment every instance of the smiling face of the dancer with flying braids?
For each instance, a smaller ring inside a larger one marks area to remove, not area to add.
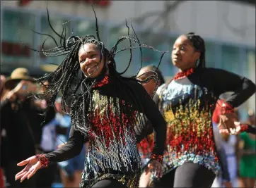
[[[97,77],[104,67],[104,58],[100,60],[100,51],[95,44],[87,43],[78,52],[80,68],[86,77]]]

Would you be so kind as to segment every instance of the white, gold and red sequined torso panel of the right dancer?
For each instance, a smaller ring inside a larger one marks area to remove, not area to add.
[[[211,114],[216,96],[205,87],[192,84],[185,78],[160,87],[161,113],[167,122],[164,172],[191,161],[218,173]]]

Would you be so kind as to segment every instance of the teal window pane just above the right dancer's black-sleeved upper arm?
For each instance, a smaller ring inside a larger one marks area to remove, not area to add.
[[[221,68],[231,71],[232,73],[240,74],[240,49],[235,46],[222,45],[222,62]]]

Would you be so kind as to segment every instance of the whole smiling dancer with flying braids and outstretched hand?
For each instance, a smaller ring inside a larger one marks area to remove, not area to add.
[[[114,60],[119,52],[117,45],[125,39],[130,42],[126,49],[131,51],[131,56],[134,48],[153,48],[141,44],[135,32],[135,37],[130,36],[128,27],[128,35],[120,37],[108,51],[100,42],[97,18],[96,32],[98,39],[92,35],[65,39],[65,32],[63,35],[55,32],[61,38],[62,45],[42,51],[47,56],[67,54],[57,70],[40,79],[43,82],[51,77],[51,82],[38,97],[46,99],[51,106],[57,94],[62,92],[62,110],[71,115],[70,137],[60,149],[18,163],[19,166],[26,166],[16,175],[16,180],[29,179],[43,166],[73,158],[80,153],[83,144],[89,142],[81,187],[138,187],[141,158],[136,147],[134,127],[142,129],[144,116],[141,114],[149,118],[155,131],[153,152],[147,168],[161,177],[165,120],[140,84],[151,78],[156,79],[157,75],[153,74],[144,81],[136,80],[136,75],[122,77],[125,71],[118,73]],[[71,105],[66,101],[71,101]]]

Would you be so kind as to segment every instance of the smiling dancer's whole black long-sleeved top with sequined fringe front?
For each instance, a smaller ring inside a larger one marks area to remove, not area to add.
[[[129,188],[139,186],[141,158],[136,142],[142,136],[137,130],[144,129],[142,115],[158,134],[151,159],[163,162],[163,115],[141,84],[136,80],[122,81],[108,82],[105,77],[94,85],[87,98],[74,100],[69,141],[62,149],[44,156],[50,163],[66,161],[78,155],[83,144],[89,142],[81,187],[92,187],[105,179],[115,179]]]

